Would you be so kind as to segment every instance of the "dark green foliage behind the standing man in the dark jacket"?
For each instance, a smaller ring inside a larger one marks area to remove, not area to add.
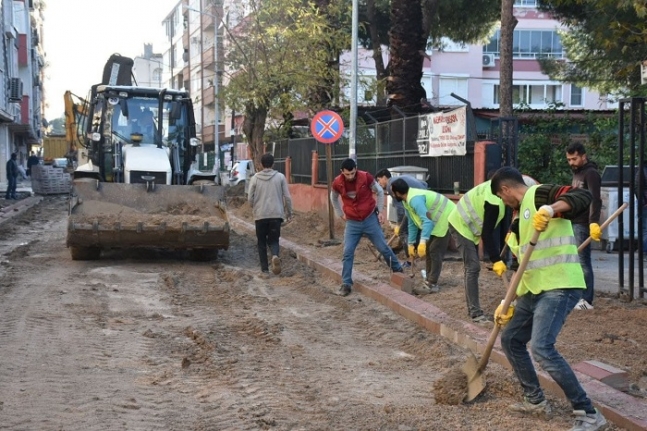
[[[542,183],[570,184],[572,173],[566,148],[576,139],[584,144],[589,160],[600,173],[617,165],[618,116],[588,112],[584,116],[551,109],[545,115],[523,120],[518,162],[521,172]],[[628,161],[628,155],[626,155]]]

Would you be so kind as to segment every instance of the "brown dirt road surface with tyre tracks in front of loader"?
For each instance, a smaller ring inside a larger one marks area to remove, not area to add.
[[[2,430],[519,429],[492,365],[470,405],[434,403],[464,352],[285,256],[262,278],[255,240],[213,262],[160,251],[72,261],[66,200],[0,225]],[[523,427],[568,429],[570,408]],[[613,428],[612,428],[613,429]]]

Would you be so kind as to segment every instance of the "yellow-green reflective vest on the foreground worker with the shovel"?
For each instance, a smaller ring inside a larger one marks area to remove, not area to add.
[[[535,191],[539,186],[528,188],[519,209],[519,261],[528,250],[535,231],[532,218],[537,213]],[[514,237],[514,235],[511,235]],[[512,247],[511,247],[512,249]],[[528,266],[517,287],[517,295],[539,294],[555,289],[585,289],[584,273],[577,253],[577,243],[570,220],[553,218],[546,231],[539,235]]]

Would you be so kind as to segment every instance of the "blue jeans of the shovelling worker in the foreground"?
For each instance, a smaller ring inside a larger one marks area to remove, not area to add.
[[[593,411],[591,400],[575,373],[555,349],[566,317],[581,296],[582,289],[549,290],[539,295],[527,293],[517,299],[512,320],[503,328],[501,347],[531,403],[543,401],[544,393],[526,347],[530,340],[533,358],[562,388],[573,410]]]

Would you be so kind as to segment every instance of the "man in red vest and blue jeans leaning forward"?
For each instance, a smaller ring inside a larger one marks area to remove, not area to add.
[[[377,202],[373,193],[377,194]],[[402,272],[402,266],[393,250],[386,243],[380,227],[380,224],[384,222],[382,213],[384,190],[375,181],[373,175],[358,170],[355,160],[344,160],[341,164],[341,174],[333,180],[330,201],[337,217],[346,221],[341,272],[342,285],[339,289],[341,296],[350,294],[353,285],[355,249],[364,235],[382,254],[384,261],[390,265],[393,272]]]

